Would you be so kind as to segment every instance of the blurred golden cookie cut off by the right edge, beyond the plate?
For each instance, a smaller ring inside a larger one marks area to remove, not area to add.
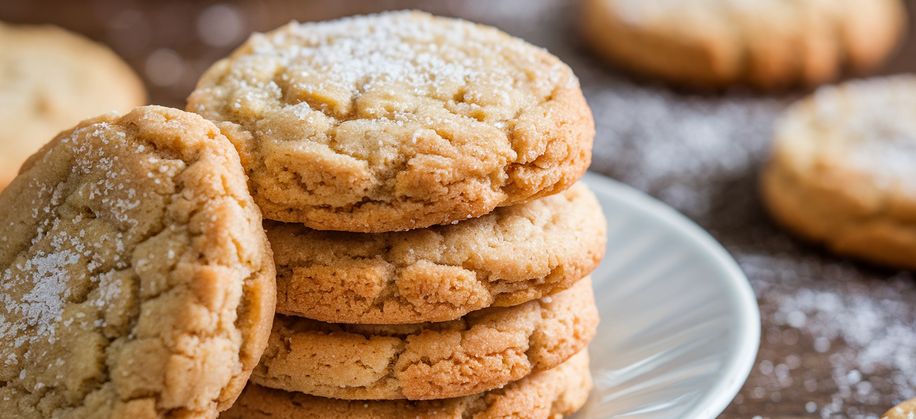
[[[776,128],[762,174],[777,222],[834,252],[916,268],[916,77],[823,87]]]

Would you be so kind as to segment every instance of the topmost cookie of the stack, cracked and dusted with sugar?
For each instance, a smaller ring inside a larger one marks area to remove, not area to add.
[[[235,146],[265,218],[319,230],[448,224],[558,193],[594,137],[547,50],[410,11],[256,34],[187,109],[251,134]]]

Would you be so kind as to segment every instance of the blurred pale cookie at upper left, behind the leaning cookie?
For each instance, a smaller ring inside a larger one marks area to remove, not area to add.
[[[146,102],[136,73],[104,45],[57,27],[0,22],[0,190],[60,131]]]

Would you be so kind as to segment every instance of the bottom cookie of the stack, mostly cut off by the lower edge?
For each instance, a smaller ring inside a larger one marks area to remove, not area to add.
[[[346,401],[249,383],[221,419],[562,419],[592,391],[588,353],[491,391],[454,399],[411,402]]]

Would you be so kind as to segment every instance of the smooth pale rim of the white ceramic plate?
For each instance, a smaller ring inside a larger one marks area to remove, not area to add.
[[[695,243],[701,252],[708,254],[714,264],[725,273],[725,282],[730,285],[728,292],[735,301],[738,317],[739,327],[734,338],[736,350],[723,364],[725,373],[681,416],[684,419],[714,419],[725,411],[744,386],[754,367],[760,347],[760,308],[757,295],[747,281],[744,270],[741,270],[735,258],[709,232],[670,205],[626,183],[594,171],[586,171],[583,181],[595,190],[595,193],[598,193],[599,188],[605,189],[605,193],[633,205],[665,226],[671,227],[688,241]]]

